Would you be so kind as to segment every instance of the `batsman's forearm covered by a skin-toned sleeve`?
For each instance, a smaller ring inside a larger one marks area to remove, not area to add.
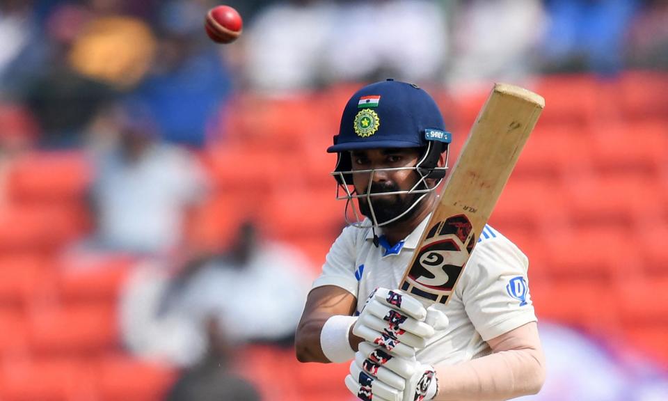
[[[437,401],[509,400],[536,394],[545,381],[540,349],[513,349],[457,365],[437,365]]]

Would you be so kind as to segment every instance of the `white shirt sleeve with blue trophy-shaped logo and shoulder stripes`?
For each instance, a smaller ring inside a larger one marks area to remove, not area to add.
[[[472,262],[472,263],[471,263]],[[527,257],[498,236],[477,244],[464,269],[459,294],[483,340],[536,321],[529,294]]]

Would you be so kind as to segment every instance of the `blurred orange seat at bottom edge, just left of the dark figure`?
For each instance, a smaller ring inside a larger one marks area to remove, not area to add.
[[[164,400],[177,378],[173,367],[124,354],[106,354],[95,365],[95,381],[104,401]]]

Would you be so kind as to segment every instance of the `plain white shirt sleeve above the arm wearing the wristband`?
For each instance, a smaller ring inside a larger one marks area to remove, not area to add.
[[[336,285],[357,297],[358,281],[355,278],[357,234],[357,230],[353,227],[344,228],[327,253],[322,273],[315,279],[312,288]]]

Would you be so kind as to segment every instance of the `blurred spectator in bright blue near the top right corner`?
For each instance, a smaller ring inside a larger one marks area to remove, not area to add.
[[[543,71],[619,72],[623,40],[637,6],[637,0],[546,0],[549,22],[542,43]]]

